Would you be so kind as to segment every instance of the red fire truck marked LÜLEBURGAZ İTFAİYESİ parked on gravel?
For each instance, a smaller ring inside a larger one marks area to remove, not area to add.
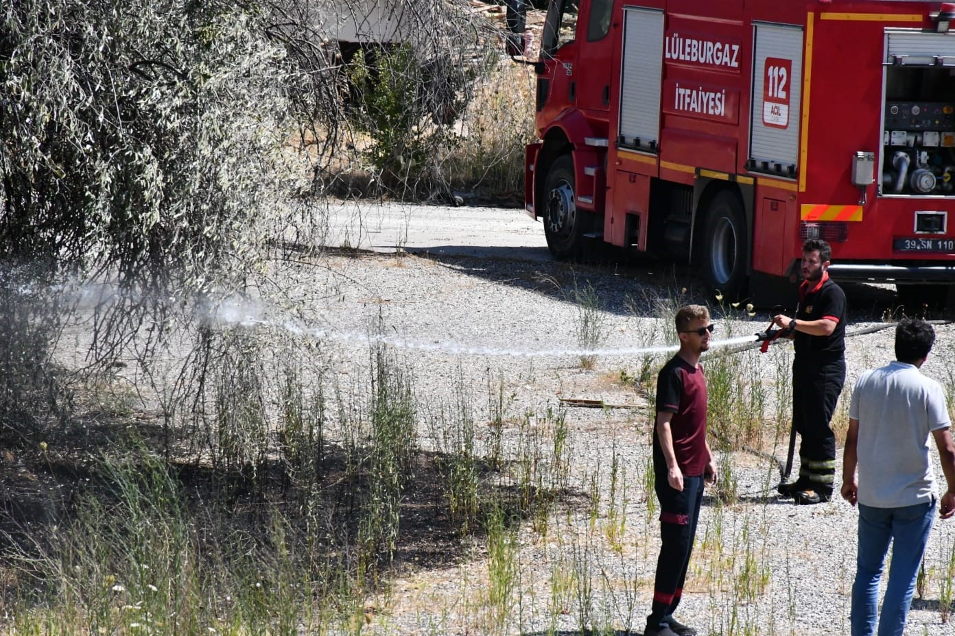
[[[523,6],[509,0],[512,55]],[[603,240],[731,297],[795,279],[810,237],[837,280],[943,297],[952,20],[955,3],[913,0],[550,0],[540,58],[523,58],[540,136],[527,214],[557,258]]]

